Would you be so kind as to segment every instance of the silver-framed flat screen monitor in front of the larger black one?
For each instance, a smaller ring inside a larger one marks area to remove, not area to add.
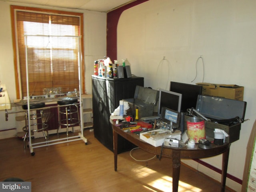
[[[158,99],[158,116],[161,116],[162,107],[180,112],[182,94],[160,89]]]

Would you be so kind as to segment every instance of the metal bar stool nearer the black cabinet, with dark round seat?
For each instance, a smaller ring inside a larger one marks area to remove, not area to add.
[[[72,126],[72,132],[74,133],[74,125],[76,124],[80,124],[80,118],[79,118],[79,107],[78,104],[77,105],[73,105],[75,106],[75,109],[72,109],[72,106],[70,104],[75,104],[77,103],[78,100],[77,99],[66,99],[66,100],[62,100],[62,101],[58,101],[58,105],[60,107],[58,107],[58,129],[57,129],[57,135],[59,138],[59,129],[61,126],[66,126],[66,136],[68,137],[68,127]],[[66,105],[61,107],[62,105]],[[70,106],[67,106],[70,105]],[[76,115],[77,114],[77,118]],[[63,119],[62,117],[65,116]]]

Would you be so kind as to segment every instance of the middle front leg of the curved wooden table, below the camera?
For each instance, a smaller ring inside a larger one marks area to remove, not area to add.
[[[180,151],[172,150],[172,191],[178,192],[180,178]]]

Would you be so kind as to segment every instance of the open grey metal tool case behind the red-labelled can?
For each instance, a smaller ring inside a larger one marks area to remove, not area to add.
[[[239,140],[246,104],[239,100],[198,95],[195,110],[210,119],[210,121],[205,121],[207,137],[214,138],[213,131],[218,128],[229,134],[225,142],[232,143]],[[187,114],[184,118],[185,122],[190,117]]]

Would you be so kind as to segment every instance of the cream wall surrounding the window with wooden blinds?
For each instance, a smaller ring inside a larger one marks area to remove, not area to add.
[[[16,99],[16,88],[10,19],[11,4],[11,2],[0,1],[0,81],[6,84],[10,100],[13,102]],[[84,13],[85,86],[86,92],[92,93],[91,75],[94,74],[94,60],[106,55],[106,13],[31,4],[16,3],[15,5]],[[15,128],[15,116],[16,114],[9,114],[8,121],[5,121],[5,112],[0,111],[0,130]],[[2,131],[0,132],[0,138],[7,138],[15,134],[16,130]]]

